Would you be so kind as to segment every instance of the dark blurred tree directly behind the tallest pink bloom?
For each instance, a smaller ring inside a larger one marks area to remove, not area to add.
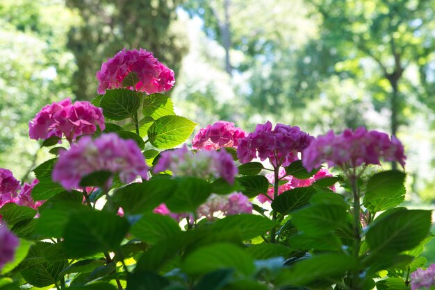
[[[68,48],[79,69],[73,78],[77,99],[92,99],[97,94],[95,74],[108,57],[124,47],[142,47],[168,67],[179,71],[188,51],[183,31],[177,30],[177,6],[181,0],[67,0],[76,8],[82,25],[72,28]]]

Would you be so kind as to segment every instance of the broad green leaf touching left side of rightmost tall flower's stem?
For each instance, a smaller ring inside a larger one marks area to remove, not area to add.
[[[293,214],[292,223],[310,236],[322,236],[345,224],[347,212],[340,205],[311,205]]]

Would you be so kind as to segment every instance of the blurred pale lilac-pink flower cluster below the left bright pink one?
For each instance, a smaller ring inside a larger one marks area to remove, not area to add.
[[[148,170],[136,142],[109,133],[95,140],[82,137],[71,149],[61,151],[52,178],[70,190],[79,188],[80,180],[95,171],[119,173],[121,181],[129,183],[137,176],[147,178]]]

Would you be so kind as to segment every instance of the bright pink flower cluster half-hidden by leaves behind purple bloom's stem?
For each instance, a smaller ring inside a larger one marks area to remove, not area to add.
[[[311,178],[308,179],[297,179],[293,176],[286,176],[286,169],[284,169],[283,167],[279,168],[279,178],[282,178],[281,180],[286,180],[287,182],[284,183],[284,185],[279,185],[278,187],[278,195],[282,194],[284,191],[288,191],[290,189],[294,189],[297,187],[309,187],[310,185],[312,185],[316,180],[325,178],[325,177],[329,177],[332,176],[331,173],[329,173],[329,171],[327,169],[320,169],[317,173],[315,173],[314,176],[312,176]],[[275,178],[274,178],[274,173],[268,173],[265,175],[266,178],[268,178],[268,181],[271,185],[274,185],[275,182]],[[335,187],[334,185],[332,187],[330,187],[332,190],[335,191]],[[260,203],[271,203],[273,198],[274,198],[274,192],[273,192],[273,187],[269,187],[268,189],[268,196],[270,198],[268,198],[267,196],[260,194],[259,196],[257,196],[257,199]]]

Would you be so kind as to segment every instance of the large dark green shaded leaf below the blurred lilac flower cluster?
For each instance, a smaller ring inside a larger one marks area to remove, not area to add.
[[[110,212],[80,212],[65,225],[65,250],[74,257],[117,250],[129,230],[126,219]]]

